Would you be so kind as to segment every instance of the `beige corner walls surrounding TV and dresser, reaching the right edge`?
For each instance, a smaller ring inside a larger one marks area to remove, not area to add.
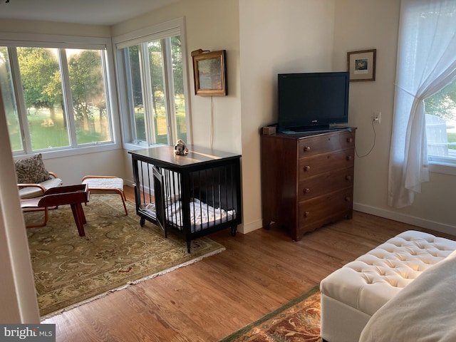
[[[374,82],[352,82],[355,209],[455,234],[456,177],[431,173],[415,204],[388,207],[388,158],[398,42],[398,0],[239,1],[244,232],[261,227],[259,134],[276,122],[276,74],[346,70],[347,52],[377,50]],[[375,125],[372,116],[382,113]],[[362,157],[368,154],[366,157]]]

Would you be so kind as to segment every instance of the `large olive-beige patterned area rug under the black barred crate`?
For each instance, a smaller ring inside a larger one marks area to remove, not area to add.
[[[49,211],[46,227],[27,229],[31,264],[41,318],[81,305],[110,291],[222,252],[224,247],[203,237],[192,241],[191,253],[182,237],[140,218],[127,202],[125,216],[118,195],[93,195],[83,206],[85,237],[69,205]],[[43,212],[24,214],[26,222],[42,222]]]

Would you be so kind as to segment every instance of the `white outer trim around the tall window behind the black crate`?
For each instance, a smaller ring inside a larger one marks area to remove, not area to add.
[[[185,95],[185,120],[187,123],[187,143],[192,145],[192,129],[191,129],[191,111],[190,111],[190,93],[189,93],[189,73],[188,73],[188,61],[187,61],[187,40],[185,38],[185,17],[173,19],[170,21],[165,21],[164,23],[149,26],[146,28],[141,28],[137,31],[132,31],[130,33],[125,33],[120,36],[115,36],[112,38],[113,48],[115,49],[115,65],[116,65],[116,74],[117,86],[118,86],[118,96],[120,103],[120,113],[128,113],[128,99],[125,98],[126,92],[120,91],[125,84],[125,76],[123,74],[122,66],[122,49],[128,46],[137,45],[139,43],[145,43],[147,41],[154,41],[161,38],[167,38],[172,35],[180,35],[180,43],[182,48],[182,76],[184,78],[184,95]],[[128,118],[127,118],[128,116]],[[120,124],[122,128],[123,136],[123,147],[126,150],[139,150],[142,148],[152,147],[154,145],[147,145],[143,142],[130,142],[130,118],[129,115],[122,115],[120,118]]]

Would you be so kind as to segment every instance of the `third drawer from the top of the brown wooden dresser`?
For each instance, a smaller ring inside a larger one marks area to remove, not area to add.
[[[299,202],[346,187],[353,187],[353,167],[326,172],[299,182]]]

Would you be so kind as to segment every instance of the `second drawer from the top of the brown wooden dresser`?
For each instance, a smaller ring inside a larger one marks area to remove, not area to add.
[[[355,151],[352,149],[303,158],[299,160],[299,180],[305,180],[323,172],[353,167],[355,165],[354,154]]]

